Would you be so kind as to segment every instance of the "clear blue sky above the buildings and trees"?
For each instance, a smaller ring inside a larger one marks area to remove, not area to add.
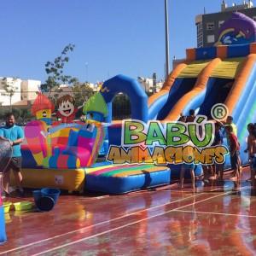
[[[195,15],[220,3],[169,0],[171,60],[196,46]],[[45,62],[71,43],[65,72],[80,81],[119,73],[164,78],[164,0],[6,0],[0,9],[0,76],[44,82]]]

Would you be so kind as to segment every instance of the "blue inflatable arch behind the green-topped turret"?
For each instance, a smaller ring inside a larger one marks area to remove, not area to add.
[[[112,122],[112,102],[119,92],[126,94],[131,102],[131,119],[148,122],[148,96],[135,79],[117,75],[102,85],[102,96],[108,105],[106,122]]]

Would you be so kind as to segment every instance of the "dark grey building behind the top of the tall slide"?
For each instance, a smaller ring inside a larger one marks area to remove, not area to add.
[[[197,47],[212,47],[218,41],[219,28],[236,11],[256,20],[256,8],[253,7],[253,1],[243,1],[241,4],[233,3],[232,6],[228,6],[223,0],[220,12],[197,15],[195,17]]]

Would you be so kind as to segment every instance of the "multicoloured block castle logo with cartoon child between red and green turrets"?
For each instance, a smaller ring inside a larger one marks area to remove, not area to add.
[[[61,96],[57,102],[57,116],[61,117],[61,121],[49,125],[51,122],[45,121],[43,113],[52,113],[54,107],[46,98],[38,95],[32,107],[32,113],[36,113],[37,120],[25,127],[27,145],[37,165],[59,169],[92,165],[105,137],[102,121],[108,115],[101,93],[92,96],[85,103],[83,112],[90,117],[85,123],[73,120],[80,108],[74,107],[73,97]],[[45,104],[38,104],[43,99]]]

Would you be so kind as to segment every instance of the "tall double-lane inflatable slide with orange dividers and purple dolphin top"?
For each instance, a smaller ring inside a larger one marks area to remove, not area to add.
[[[256,122],[255,24],[234,13],[220,30],[218,45],[187,49],[186,60],[173,69],[160,92],[149,97],[148,119],[176,121],[180,113],[189,114],[189,109],[212,119],[212,106],[223,103],[237,125],[245,164],[247,124]]]

